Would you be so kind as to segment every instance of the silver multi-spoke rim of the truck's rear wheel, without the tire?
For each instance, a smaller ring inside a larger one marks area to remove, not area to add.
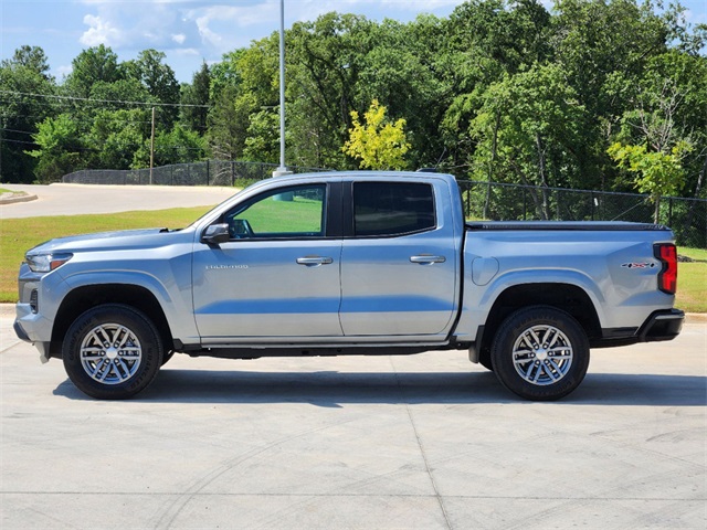
[[[560,381],[572,365],[570,339],[553,326],[526,329],[513,346],[513,363],[525,381],[547,386]]]

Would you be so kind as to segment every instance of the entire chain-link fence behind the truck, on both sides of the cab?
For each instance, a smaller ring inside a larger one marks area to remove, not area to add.
[[[157,184],[245,187],[272,177],[275,163],[208,160],[137,170],[82,170],[63,182],[83,184]],[[288,167],[295,173],[325,171]],[[519,184],[458,181],[467,219],[633,221],[652,223],[655,206],[648,195],[568,190]],[[658,223],[671,226],[679,245],[707,248],[707,200],[664,198]]]

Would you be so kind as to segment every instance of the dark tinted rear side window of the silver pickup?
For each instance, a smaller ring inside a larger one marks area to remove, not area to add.
[[[354,233],[402,235],[436,225],[432,186],[416,182],[356,182]]]

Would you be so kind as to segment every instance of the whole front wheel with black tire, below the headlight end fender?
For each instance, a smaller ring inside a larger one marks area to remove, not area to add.
[[[162,356],[162,340],[152,321],[119,304],[96,306],[81,315],[62,346],[71,381],[99,400],[124,400],[145,390],[157,377]]]

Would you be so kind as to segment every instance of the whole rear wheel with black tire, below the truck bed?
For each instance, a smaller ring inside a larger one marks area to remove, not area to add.
[[[502,384],[520,398],[559,400],[584,379],[589,340],[567,312],[531,306],[504,320],[494,338],[490,360]]]

